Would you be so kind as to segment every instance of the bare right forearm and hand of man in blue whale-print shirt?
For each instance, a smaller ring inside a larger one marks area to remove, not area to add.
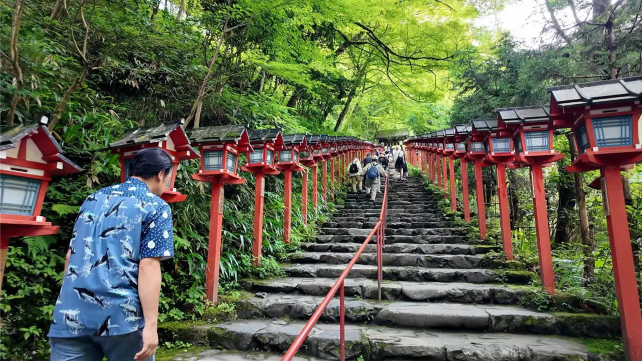
[[[146,360],[152,357],[159,344],[157,333],[160,296],[160,258],[143,258],[138,266],[138,295],[143,307],[143,349],[134,357]]]

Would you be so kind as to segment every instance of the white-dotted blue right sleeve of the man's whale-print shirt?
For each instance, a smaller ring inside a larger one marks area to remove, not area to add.
[[[161,260],[167,260],[172,258],[174,256],[173,241],[171,211],[168,204],[162,204],[156,209],[156,214],[143,227],[140,259],[160,257]]]

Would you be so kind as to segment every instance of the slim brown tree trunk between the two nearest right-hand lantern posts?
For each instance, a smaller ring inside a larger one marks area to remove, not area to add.
[[[577,157],[577,146],[573,133],[566,134],[568,138],[569,150],[571,153],[571,162]],[[573,173],[575,180],[575,198],[577,200],[577,209],[580,214],[580,236],[582,237],[582,249],[584,251],[584,284],[587,285],[593,282],[595,277],[595,259],[593,252],[595,252],[595,238],[593,231],[589,225],[589,213],[586,210],[586,193],[584,193],[584,175],[582,173]]]

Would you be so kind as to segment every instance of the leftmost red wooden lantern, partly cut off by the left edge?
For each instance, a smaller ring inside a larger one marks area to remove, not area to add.
[[[0,289],[9,238],[45,236],[58,231],[57,225],[40,216],[47,186],[53,175],[80,172],[67,159],[45,126],[21,124],[0,134]]]

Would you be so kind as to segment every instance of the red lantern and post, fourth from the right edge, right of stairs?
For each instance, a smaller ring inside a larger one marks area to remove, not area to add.
[[[471,123],[471,135],[467,140],[467,153],[465,158],[468,161],[474,162],[475,170],[475,193],[477,197],[477,218],[480,225],[480,238],[482,240],[486,239],[486,209],[485,202],[483,198],[483,177],[482,177],[482,167],[491,166],[492,163],[485,161],[486,151],[484,148],[484,139],[487,134],[486,121],[494,121],[493,118],[482,118],[482,119],[473,119]],[[475,127],[477,124],[477,127]],[[505,180],[504,180],[505,182]]]

